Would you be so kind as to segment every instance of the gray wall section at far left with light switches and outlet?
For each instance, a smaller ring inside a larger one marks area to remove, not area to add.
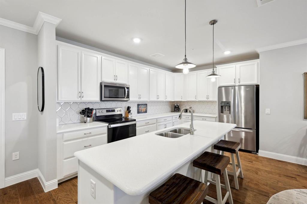
[[[5,177],[37,168],[37,35],[0,26],[5,49]],[[12,121],[12,113],[27,120]],[[20,159],[12,161],[12,153]]]

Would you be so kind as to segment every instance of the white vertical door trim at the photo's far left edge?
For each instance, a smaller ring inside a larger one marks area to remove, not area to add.
[[[5,49],[0,48],[0,188],[5,187]]]

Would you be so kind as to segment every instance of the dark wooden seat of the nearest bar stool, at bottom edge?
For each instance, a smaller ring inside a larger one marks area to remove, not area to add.
[[[177,173],[150,193],[149,203],[200,204],[207,194],[207,184]]]

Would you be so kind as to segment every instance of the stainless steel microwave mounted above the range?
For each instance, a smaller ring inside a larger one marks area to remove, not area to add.
[[[128,101],[130,86],[126,84],[100,82],[100,101]]]

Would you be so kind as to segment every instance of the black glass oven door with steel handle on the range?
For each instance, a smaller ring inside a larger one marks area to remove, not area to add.
[[[136,136],[136,122],[108,126],[108,143]]]

